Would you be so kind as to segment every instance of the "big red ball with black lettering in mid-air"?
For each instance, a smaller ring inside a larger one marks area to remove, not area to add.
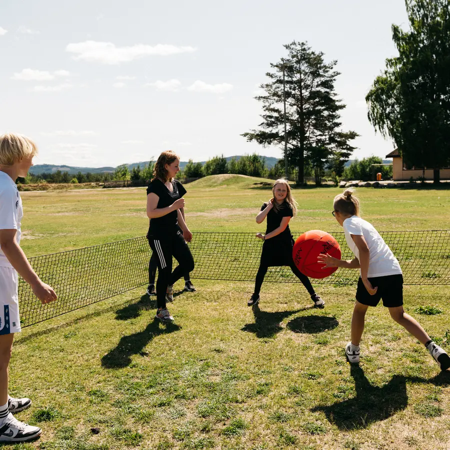
[[[337,267],[324,267],[317,261],[320,253],[327,253],[340,259],[340,247],[331,234],[313,229],[297,237],[292,249],[292,257],[298,270],[310,278],[325,278],[337,270]]]

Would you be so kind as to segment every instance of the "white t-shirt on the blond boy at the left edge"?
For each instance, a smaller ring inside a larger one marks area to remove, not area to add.
[[[0,170],[0,229],[16,229],[15,239],[20,244],[20,222],[23,210],[17,186],[12,178]],[[0,267],[12,267],[0,247]]]

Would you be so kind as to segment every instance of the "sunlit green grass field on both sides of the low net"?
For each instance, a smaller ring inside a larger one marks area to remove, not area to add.
[[[186,185],[190,229],[264,231],[254,222],[270,196],[254,184],[261,181],[219,175]],[[330,213],[340,191],[295,190],[291,228],[340,231]],[[358,195],[378,230],[448,228],[448,191]],[[142,188],[23,192],[22,200],[28,256],[147,228]],[[194,283],[197,292],[170,305],[175,324],[153,320],[154,298],[142,288],[25,328],[14,343],[10,390],[32,398],[17,416],[43,433],[5,447],[450,448],[450,373],[382,306],[367,316],[360,366],[345,362],[354,286],[318,287],[326,307],[313,309],[301,285],[266,283],[252,310],[252,280]],[[450,347],[448,286],[405,286],[404,297],[407,312]]]

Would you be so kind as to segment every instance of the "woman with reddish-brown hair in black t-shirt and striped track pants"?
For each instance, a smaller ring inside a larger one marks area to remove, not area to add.
[[[173,151],[163,151],[154,165],[153,179],[147,188],[147,216],[150,219],[147,238],[157,255],[158,265],[156,318],[165,322],[173,321],[166,308],[166,301],[173,301],[173,283],[194,267],[186,244],[192,240],[192,233],[180,211],[184,207],[182,196],[186,189],[174,179],[178,171],[179,157]],[[172,257],[178,261],[173,272]]]

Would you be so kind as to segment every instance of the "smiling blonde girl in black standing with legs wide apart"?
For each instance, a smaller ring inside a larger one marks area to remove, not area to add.
[[[297,208],[287,181],[277,179],[273,183],[272,194],[273,197],[262,205],[259,214],[256,216],[256,223],[261,223],[267,217],[267,229],[265,234],[256,234],[256,237],[264,240],[264,243],[262,244],[261,260],[254,283],[254,292],[247,301],[247,305],[253,306],[259,302],[259,291],[268,267],[288,265],[308,290],[315,306],[323,307],[325,302],[314,292],[308,277],[303,275],[293,262],[292,247],[294,241],[289,229],[289,220],[295,215]]]

